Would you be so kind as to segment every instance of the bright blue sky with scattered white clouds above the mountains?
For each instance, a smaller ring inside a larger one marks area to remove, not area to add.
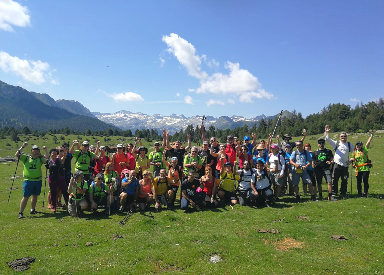
[[[101,113],[306,116],[384,94],[383,13],[382,1],[0,0],[0,80]]]

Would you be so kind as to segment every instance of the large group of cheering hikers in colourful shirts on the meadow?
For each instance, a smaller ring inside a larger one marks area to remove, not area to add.
[[[310,200],[317,201],[323,199],[324,178],[327,200],[337,201],[340,179],[340,195],[346,196],[351,164],[356,171],[358,196],[366,197],[372,167],[368,149],[373,132],[369,132],[371,136],[365,146],[361,141],[353,146],[347,141],[345,132],[340,133],[339,140],[332,140],[326,125],[324,138],[318,139],[318,149],[312,151],[309,143],[304,144],[306,130],[296,142],[291,142],[289,134],[285,134],[282,141],[277,134],[275,143],[271,134],[267,142],[257,141],[252,134],[252,141],[249,136],[240,141],[228,135],[227,142],[220,144],[215,137],[207,141],[202,126],[199,148],[191,146],[189,133],[187,146],[183,147],[180,141],[171,144],[169,131],[164,129],[162,143],[154,142],[149,156],[139,137],[134,144],[118,144],[117,152],[111,157],[106,156],[106,147],[99,141],[96,147],[90,146],[88,141],[80,145],[78,140],[74,140],[71,147],[64,142],[50,151],[44,146],[44,155],[37,145],[32,146],[28,155],[23,154],[28,146],[24,142],[15,154],[24,168],[18,218],[24,217],[30,196],[30,214],[39,213],[35,207],[43,184],[41,167],[44,164],[46,175],[49,172],[48,208],[56,212],[58,207],[66,206],[72,217],[83,216],[87,208],[96,213],[98,206],[103,206],[106,214],[110,214],[111,208],[119,213],[137,208],[145,211],[152,204],[155,210],[163,206],[172,210],[179,188],[182,210],[187,210],[189,205],[200,210],[238,203],[270,207],[285,195],[295,196],[300,202],[300,179],[304,195],[309,192]],[[325,142],[333,150],[325,148]],[[62,198],[65,205],[60,202]]]

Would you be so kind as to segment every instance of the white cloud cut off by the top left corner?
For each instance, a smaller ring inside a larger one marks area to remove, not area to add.
[[[11,25],[25,27],[30,25],[28,8],[12,0],[0,0],[0,29],[14,31]]]

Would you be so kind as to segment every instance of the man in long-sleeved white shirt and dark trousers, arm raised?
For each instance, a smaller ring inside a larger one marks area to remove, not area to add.
[[[333,157],[333,170],[332,170],[332,197],[336,197],[338,193],[339,178],[341,177],[340,195],[346,196],[348,185],[348,167],[351,164],[349,153],[353,151],[353,145],[347,141],[347,133],[341,132],[339,135],[340,140],[334,141],[329,137],[329,126],[325,126],[325,141],[331,144],[334,149]]]

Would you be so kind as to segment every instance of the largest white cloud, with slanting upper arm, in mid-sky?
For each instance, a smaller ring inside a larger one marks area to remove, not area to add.
[[[196,90],[188,89],[189,92],[213,93],[220,96],[229,94],[239,97],[241,102],[253,102],[252,98],[273,98],[273,94],[262,88],[257,77],[248,70],[240,69],[239,63],[227,61],[224,67],[229,70],[228,74],[217,72],[208,75],[200,70],[201,59],[207,64],[218,66],[218,62],[214,59],[207,62],[207,56],[197,56],[195,47],[175,33],[171,33],[170,36],[163,36],[162,41],[167,44],[168,52],[174,54],[180,64],[187,68],[189,75],[199,79],[200,87]]]

